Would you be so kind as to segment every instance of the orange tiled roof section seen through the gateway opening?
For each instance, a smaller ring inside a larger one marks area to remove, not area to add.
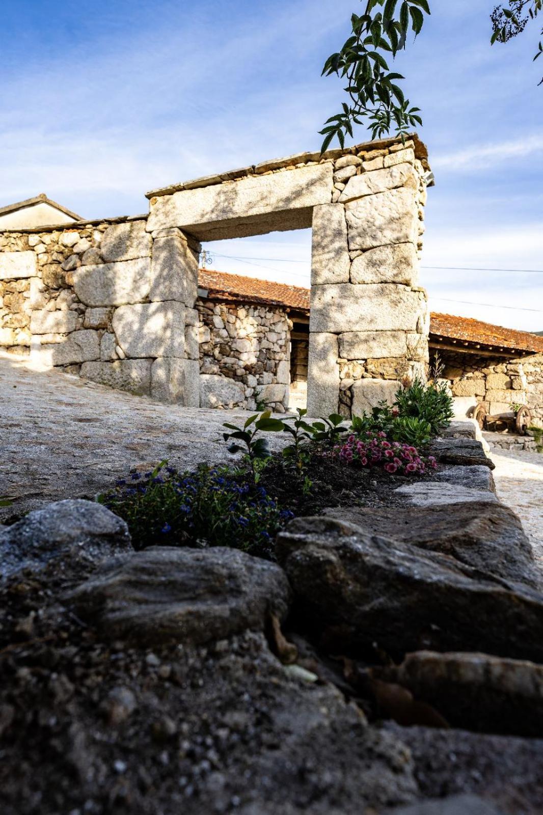
[[[256,277],[231,275],[214,269],[198,271],[198,285],[208,289],[211,296],[223,296],[228,300],[273,303],[309,311],[309,289],[276,283],[275,280],[258,280]]]

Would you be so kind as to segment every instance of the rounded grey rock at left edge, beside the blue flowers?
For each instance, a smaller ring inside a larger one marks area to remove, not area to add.
[[[39,571],[57,558],[69,570],[73,562],[96,563],[131,548],[126,523],[101,504],[57,501],[0,531],[0,577]]]

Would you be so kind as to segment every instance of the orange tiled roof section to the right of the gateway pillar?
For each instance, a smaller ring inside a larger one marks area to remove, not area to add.
[[[515,350],[543,352],[543,337],[528,331],[515,331],[502,325],[483,323],[471,317],[454,317],[450,314],[430,315],[430,333],[438,337],[475,342],[492,348],[512,348]]]

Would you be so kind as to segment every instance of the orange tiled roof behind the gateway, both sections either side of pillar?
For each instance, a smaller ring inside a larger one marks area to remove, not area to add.
[[[273,280],[258,280],[255,277],[231,275],[224,271],[201,269],[198,272],[201,289],[208,289],[212,297],[227,300],[272,303],[289,306],[299,311],[309,311],[309,289],[289,286]],[[430,315],[430,334],[435,337],[448,337],[452,340],[490,346],[492,349],[510,348],[514,350],[543,353],[543,337],[528,331],[515,331],[501,325],[483,323],[470,317],[455,317],[450,314]],[[461,350],[461,346],[458,346]]]

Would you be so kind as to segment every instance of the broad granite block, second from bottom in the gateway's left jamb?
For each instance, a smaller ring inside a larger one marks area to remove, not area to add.
[[[185,306],[174,300],[120,306],[113,331],[127,357],[183,357]]]

